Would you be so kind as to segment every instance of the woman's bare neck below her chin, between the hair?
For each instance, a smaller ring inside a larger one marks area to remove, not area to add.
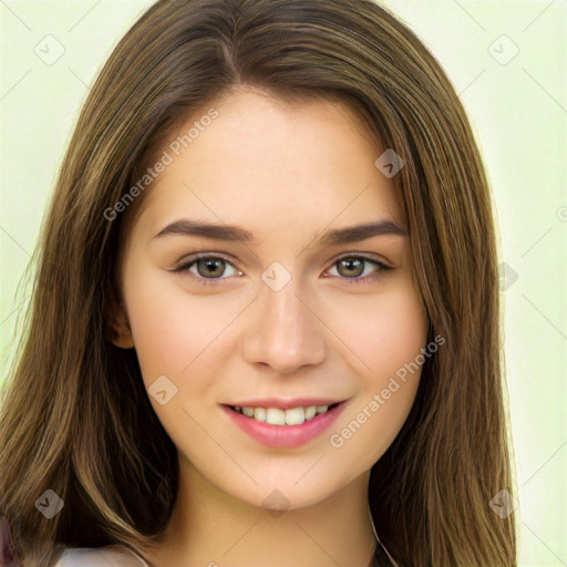
[[[370,472],[327,499],[268,511],[220,491],[186,460],[162,542],[143,553],[156,567],[368,567],[375,547],[368,509]],[[268,563],[267,563],[267,559]]]

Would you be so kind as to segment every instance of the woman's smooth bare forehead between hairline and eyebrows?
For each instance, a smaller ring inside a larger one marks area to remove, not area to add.
[[[204,120],[210,109],[216,117]],[[384,148],[343,104],[236,92],[195,113],[171,138],[158,153],[168,165],[138,216],[154,234],[184,215],[259,236],[341,219],[403,223],[392,181],[374,165]]]

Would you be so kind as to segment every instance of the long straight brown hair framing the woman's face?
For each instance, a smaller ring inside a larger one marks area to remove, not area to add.
[[[177,453],[135,351],[109,340],[126,215],[107,212],[187,116],[243,84],[340,100],[405,162],[394,184],[415,284],[430,338],[446,342],[372,468],[380,539],[403,566],[515,566],[514,515],[489,506],[514,489],[487,179],[441,65],[370,0],[162,0],[112,53],[61,167],[2,399],[0,514],[20,558],[39,567],[62,544],[137,547],[164,532]],[[48,489],[64,502],[52,519],[34,505]]]

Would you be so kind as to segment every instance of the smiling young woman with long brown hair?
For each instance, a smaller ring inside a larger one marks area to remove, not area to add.
[[[516,565],[487,181],[375,2],[155,3],[38,261],[6,563]]]

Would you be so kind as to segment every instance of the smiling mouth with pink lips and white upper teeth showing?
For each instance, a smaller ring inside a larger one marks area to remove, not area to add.
[[[230,421],[251,439],[270,447],[303,445],[326,431],[344,409],[347,400],[328,403],[255,402],[221,408]]]

